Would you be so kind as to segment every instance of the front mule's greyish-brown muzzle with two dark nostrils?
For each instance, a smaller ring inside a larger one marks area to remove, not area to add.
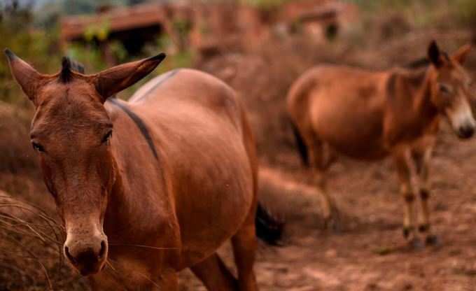
[[[105,240],[100,243],[72,243],[64,244],[64,256],[78,269],[81,275],[97,274],[106,264],[108,246]]]

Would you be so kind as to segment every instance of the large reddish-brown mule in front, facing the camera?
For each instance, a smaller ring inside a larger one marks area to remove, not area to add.
[[[66,58],[42,75],[6,55],[36,106],[31,142],[66,228],[64,255],[93,290],[178,290],[187,267],[209,290],[258,290],[257,159],[230,87],[181,69],[125,102],[108,97],[165,55],[93,75]],[[238,280],[216,254],[228,239]]]

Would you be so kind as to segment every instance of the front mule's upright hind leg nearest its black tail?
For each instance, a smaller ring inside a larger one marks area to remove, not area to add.
[[[255,209],[255,207],[252,208],[241,229],[232,237],[233,255],[237,265],[240,291],[258,291],[253,271],[257,248]]]

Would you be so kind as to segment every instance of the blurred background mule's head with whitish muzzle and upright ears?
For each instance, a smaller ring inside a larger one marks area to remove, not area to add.
[[[470,49],[470,45],[465,45],[449,56],[440,51],[435,41],[428,47],[428,58],[433,66],[430,75],[432,102],[447,116],[461,139],[470,138],[476,127],[470,106],[472,79],[462,66]]]

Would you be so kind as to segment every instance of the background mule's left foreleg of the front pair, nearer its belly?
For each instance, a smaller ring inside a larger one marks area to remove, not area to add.
[[[409,150],[395,155],[395,165],[400,180],[400,194],[405,201],[405,217],[403,219],[403,236],[415,247],[419,247],[421,241],[415,232],[416,211],[414,207],[415,194],[412,180],[415,177],[414,164]]]

